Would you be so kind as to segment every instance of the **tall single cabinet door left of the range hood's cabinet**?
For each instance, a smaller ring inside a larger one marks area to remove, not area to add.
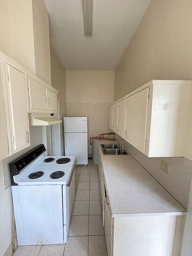
[[[25,74],[7,65],[13,132],[13,153],[30,146]]]

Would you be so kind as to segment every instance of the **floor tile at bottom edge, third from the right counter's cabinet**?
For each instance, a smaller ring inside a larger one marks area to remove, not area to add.
[[[65,244],[42,245],[38,256],[63,256]]]

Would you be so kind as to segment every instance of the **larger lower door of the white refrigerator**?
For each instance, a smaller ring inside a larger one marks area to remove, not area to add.
[[[88,164],[87,133],[65,133],[65,156],[75,156],[77,164]]]

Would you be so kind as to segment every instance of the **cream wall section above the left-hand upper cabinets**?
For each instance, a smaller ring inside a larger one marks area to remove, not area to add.
[[[2,0],[0,51],[51,84],[49,19],[43,0]]]

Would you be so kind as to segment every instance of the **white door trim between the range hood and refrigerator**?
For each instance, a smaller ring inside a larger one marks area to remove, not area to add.
[[[57,114],[55,116],[57,116],[60,119],[59,99],[57,99]],[[52,134],[52,155],[53,156],[61,156],[60,123],[51,125],[51,134]]]

